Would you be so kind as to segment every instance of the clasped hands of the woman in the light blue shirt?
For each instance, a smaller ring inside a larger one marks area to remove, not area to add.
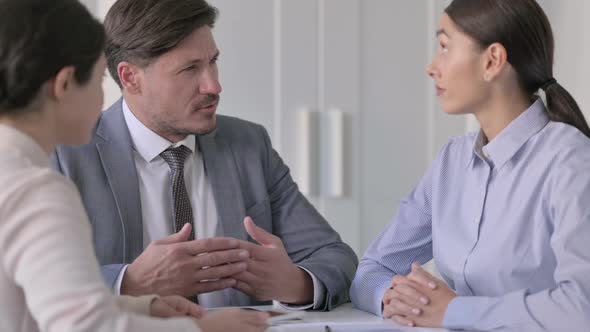
[[[407,276],[396,275],[383,296],[383,318],[406,326],[441,327],[455,292],[413,263]]]

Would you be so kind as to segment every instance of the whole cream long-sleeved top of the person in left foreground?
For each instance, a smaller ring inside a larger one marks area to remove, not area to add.
[[[198,331],[147,317],[153,296],[105,286],[76,187],[24,133],[0,124],[0,331]]]

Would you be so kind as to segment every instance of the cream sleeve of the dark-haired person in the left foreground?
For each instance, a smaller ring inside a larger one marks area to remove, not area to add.
[[[199,331],[189,318],[158,319],[149,298],[118,299],[104,284],[75,187],[58,174],[28,172],[2,199],[0,263],[42,332]],[[141,312],[142,315],[136,312]]]

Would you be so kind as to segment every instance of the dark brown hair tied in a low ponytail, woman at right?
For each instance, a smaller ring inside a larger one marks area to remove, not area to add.
[[[578,104],[553,79],[553,32],[535,0],[454,0],[445,12],[482,47],[502,44],[522,89],[531,96],[541,88],[545,91],[549,118],[590,137]]]

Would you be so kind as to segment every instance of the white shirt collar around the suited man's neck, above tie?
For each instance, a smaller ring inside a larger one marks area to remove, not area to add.
[[[127,127],[129,128],[133,148],[145,161],[152,162],[160,155],[160,153],[164,152],[169,147],[178,147],[181,145],[186,146],[195,153],[195,135],[188,135],[182,141],[172,143],[141,123],[131,109],[129,109],[125,100],[123,100],[123,115],[125,117],[125,122],[127,122]]]

